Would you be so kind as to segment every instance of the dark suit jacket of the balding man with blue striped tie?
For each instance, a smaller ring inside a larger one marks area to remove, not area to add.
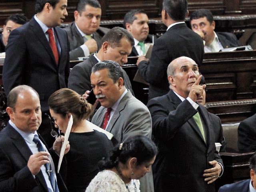
[[[42,137],[38,136],[44,143]],[[53,150],[47,150],[53,154]],[[31,155],[32,152],[24,138],[8,123],[0,132],[1,192],[48,192],[42,171],[34,178],[27,166]],[[58,162],[55,163],[58,188],[60,192],[68,192],[60,174],[57,173]]]

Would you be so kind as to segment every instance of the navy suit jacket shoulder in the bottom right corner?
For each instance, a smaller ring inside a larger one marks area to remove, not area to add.
[[[222,186],[218,192],[250,192],[250,179]]]

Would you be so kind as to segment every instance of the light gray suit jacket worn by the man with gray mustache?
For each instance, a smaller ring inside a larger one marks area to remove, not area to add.
[[[101,127],[106,113],[101,106],[92,118],[92,123]],[[121,99],[106,129],[112,133],[113,145],[125,142],[135,135],[144,135],[151,138],[152,122],[148,108],[128,92]],[[152,171],[140,179],[141,192],[154,192]]]

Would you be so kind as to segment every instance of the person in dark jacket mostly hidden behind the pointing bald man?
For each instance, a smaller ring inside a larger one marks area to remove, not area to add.
[[[200,72],[199,72],[200,73]],[[199,83],[199,85],[205,85],[204,76],[202,76],[202,79]],[[205,104],[205,97],[206,97],[206,89],[204,88],[203,94],[201,97],[197,98],[197,102],[200,103],[202,106]],[[220,143],[220,152],[226,152],[226,140],[223,136],[223,130],[222,125],[220,122],[220,118],[216,116],[215,114],[212,114],[208,112],[208,117],[210,119],[210,126],[214,128],[214,135],[215,135],[215,143]]]

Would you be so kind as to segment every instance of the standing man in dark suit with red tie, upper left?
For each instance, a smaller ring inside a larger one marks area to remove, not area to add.
[[[66,6],[67,0],[37,0],[37,14],[11,32],[3,67],[7,95],[12,88],[22,84],[38,92],[43,113],[38,132],[48,146],[54,142],[49,119],[44,115],[50,114],[48,98],[56,90],[66,88],[70,71],[68,36],[65,30],[57,27],[68,15]]]

